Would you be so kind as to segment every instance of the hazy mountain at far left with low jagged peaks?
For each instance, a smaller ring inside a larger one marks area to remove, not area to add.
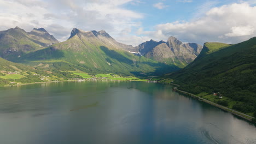
[[[34,28],[26,32],[19,27],[0,31],[0,57],[12,59],[24,53],[43,49],[59,43],[44,28]]]

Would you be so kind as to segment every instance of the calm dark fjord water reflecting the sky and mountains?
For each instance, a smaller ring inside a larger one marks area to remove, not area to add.
[[[0,88],[0,143],[256,143],[256,127],[146,82]]]

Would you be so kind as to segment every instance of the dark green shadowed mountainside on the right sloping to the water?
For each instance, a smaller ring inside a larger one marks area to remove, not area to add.
[[[256,37],[235,45],[205,43],[192,63],[167,77],[184,91],[252,115],[256,111]],[[213,92],[223,99],[213,98]]]

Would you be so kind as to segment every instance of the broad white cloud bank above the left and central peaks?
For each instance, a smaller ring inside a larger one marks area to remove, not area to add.
[[[140,26],[143,14],[125,9],[135,0],[1,0],[0,31],[19,26],[25,31],[44,27],[64,41],[72,28],[85,31],[104,29],[114,37],[128,28]],[[54,27],[53,27],[54,26]]]

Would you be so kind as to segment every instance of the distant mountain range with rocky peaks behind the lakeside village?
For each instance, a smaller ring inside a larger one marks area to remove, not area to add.
[[[82,70],[90,74],[161,75],[183,68],[202,47],[183,44],[174,37],[166,43],[150,40],[133,47],[119,43],[103,30],[77,28],[62,43],[44,28],[27,33],[16,27],[0,33],[1,57],[9,61],[46,70]]]

